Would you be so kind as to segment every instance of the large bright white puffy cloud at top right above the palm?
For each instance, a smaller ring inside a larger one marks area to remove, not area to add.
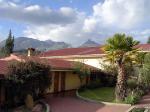
[[[128,30],[150,22],[149,10],[149,0],[105,0],[93,6],[88,21],[95,19],[101,27]]]

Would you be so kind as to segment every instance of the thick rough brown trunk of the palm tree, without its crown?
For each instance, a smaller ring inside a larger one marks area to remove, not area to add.
[[[118,76],[116,84],[116,101],[123,101],[126,95],[126,74],[124,64],[118,63]]]

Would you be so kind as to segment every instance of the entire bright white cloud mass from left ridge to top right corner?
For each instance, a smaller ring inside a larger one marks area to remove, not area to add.
[[[66,15],[71,15],[70,12],[72,12],[67,8],[60,10]],[[117,32],[124,32],[143,41],[149,32],[140,29],[140,27],[150,22],[149,10],[149,0],[105,0],[93,6],[93,14],[90,16],[78,12],[76,22],[72,24],[30,27],[25,31],[25,35],[41,40],[61,40],[77,45],[87,39],[104,43],[106,37]],[[136,28],[140,29],[137,34],[133,33],[136,32]]]

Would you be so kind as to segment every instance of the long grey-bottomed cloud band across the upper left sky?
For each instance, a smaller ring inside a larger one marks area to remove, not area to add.
[[[76,20],[76,10],[63,7],[51,10],[39,5],[24,6],[14,2],[0,2],[0,18],[35,25],[70,24]]]

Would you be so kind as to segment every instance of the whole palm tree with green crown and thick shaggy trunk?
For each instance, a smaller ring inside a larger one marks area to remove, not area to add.
[[[132,37],[125,34],[115,34],[107,40],[104,46],[106,59],[111,64],[117,66],[118,76],[116,84],[116,101],[123,101],[126,96],[126,80],[125,64],[131,63],[136,58],[137,48],[134,46],[139,44]]]

